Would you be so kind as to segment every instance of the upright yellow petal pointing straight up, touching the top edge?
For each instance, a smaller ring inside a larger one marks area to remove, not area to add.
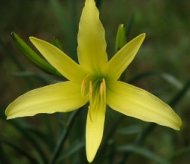
[[[100,71],[107,62],[105,31],[94,0],[86,0],[80,18],[78,59],[88,71]]]

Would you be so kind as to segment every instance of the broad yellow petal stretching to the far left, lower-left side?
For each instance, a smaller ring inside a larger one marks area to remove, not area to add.
[[[86,103],[80,86],[61,82],[34,89],[18,97],[6,109],[7,119],[33,116],[39,113],[69,112]]]

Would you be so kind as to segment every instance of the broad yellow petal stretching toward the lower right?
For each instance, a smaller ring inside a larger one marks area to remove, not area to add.
[[[108,105],[127,116],[155,122],[179,130],[180,117],[172,108],[149,92],[133,85],[116,82],[109,89]]]

